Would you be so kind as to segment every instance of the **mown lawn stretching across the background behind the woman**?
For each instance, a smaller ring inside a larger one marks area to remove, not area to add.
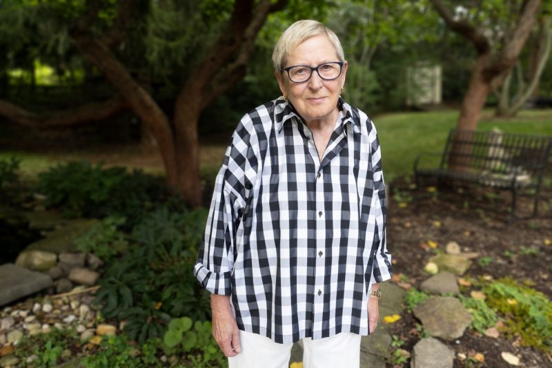
[[[391,182],[394,177],[411,174],[414,159],[419,153],[437,153],[433,163],[437,164],[446,136],[449,130],[456,126],[457,117],[457,110],[388,113],[375,117],[387,182]],[[552,135],[552,113],[551,110],[524,110],[515,118],[498,119],[493,117],[493,110],[484,110],[477,128],[491,130],[494,127],[505,132]],[[79,159],[88,159],[91,162],[104,161],[106,166],[141,167],[147,173],[162,173],[163,166],[159,154],[148,154],[145,157],[146,155],[141,154],[136,146],[115,146],[108,151],[105,148],[90,148],[70,153],[0,151],[0,159],[12,155],[21,157],[21,172],[26,177],[34,177],[57,162]],[[201,146],[201,177],[204,180],[214,180],[225,148],[223,144]]]

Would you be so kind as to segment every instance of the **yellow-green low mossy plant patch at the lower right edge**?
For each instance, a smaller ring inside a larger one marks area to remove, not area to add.
[[[485,285],[486,303],[505,316],[508,336],[521,336],[522,345],[543,351],[552,347],[552,302],[544,294],[503,278]]]

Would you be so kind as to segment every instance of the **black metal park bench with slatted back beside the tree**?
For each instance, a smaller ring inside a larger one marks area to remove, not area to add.
[[[534,194],[533,217],[538,212],[538,197],[542,176],[549,162],[552,136],[502,133],[497,130],[458,130],[449,133],[438,167],[420,168],[424,157],[414,161],[417,187],[421,177],[435,177],[437,183],[457,182],[510,190],[512,193],[510,221],[515,217],[517,191]],[[532,189],[532,191],[526,191]]]

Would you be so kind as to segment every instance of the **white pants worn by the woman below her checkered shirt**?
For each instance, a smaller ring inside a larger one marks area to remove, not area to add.
[[[228,358],[228,368],[288,368],[293,344],[239,331],[242,352]],[[358,368],[360,335],[342,332],[329,338],[303,339],[303,368]]]

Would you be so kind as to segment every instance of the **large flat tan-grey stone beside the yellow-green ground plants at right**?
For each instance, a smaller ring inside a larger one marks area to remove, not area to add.
[[[431,336],[454,340],[464,334],[471,315],[459,300],[452,297],[432,297],[418,304],[414,316],[422,321]]]

